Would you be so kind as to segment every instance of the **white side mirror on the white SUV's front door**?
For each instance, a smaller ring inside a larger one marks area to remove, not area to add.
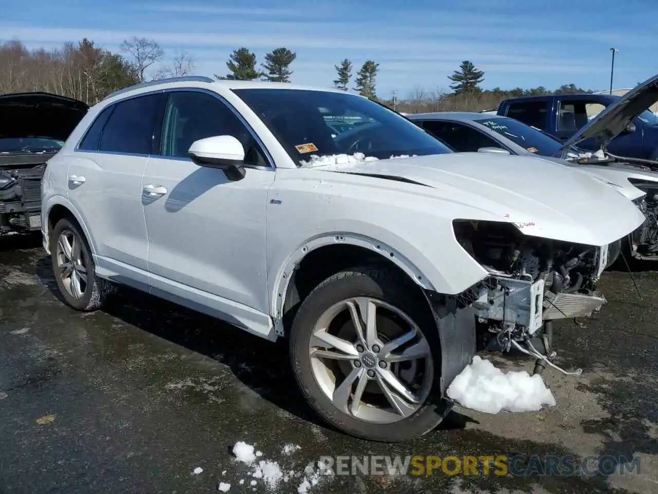
[[[218,168],[229,180],[241,180],[245,150],[234,136],[213,136],[194,141],[188,150],[194,163],[200,167]]]

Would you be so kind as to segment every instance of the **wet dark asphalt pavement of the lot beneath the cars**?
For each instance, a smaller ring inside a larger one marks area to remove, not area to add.
[[[517,454],[640,463],[610,475],[357,472],[322,476],[308,492],[658,493],[658,272],[633,277],[642,298],[629,273],[611,271],[601,312],[556,325],[557,362],[584,373],[545,371],[555,407],[455,408],[421,439],[386,445],[320,422],[297,391],[285,345],[130,290],[103,312],[80,314],[59,300],[38,238],[0,239],[0,493],[196,494],[220,483],[230,493],[297,493],[305,466],[322,456]],[[534,366],[490,358],[508,370]],[[286,480],[268,487],[249,476],[253,468],[231,454],[237,441],[277,462]],[[286,454],[285,445],[299,448]]]

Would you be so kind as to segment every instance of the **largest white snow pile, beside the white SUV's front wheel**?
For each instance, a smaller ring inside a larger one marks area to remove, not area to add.
[[[489,360],[474,356],[473,361],[452,381],[447,395],[464,408],[497,414],[541,410],[555,406],[553,393],[540,375],[526,371],[503,373]]]

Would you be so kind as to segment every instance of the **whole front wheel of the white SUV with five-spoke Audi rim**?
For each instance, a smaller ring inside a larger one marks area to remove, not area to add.
[[[351,435],[405,441],[451,409],[434,396],[441,368],[434,316],[418,289],[387,269],[350,269],[318,285],[293,320],[290,354],[311,406]]]

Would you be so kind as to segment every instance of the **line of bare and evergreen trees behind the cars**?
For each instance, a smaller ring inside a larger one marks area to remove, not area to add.
[[[215,74],[222,80],[266,80],[290,82],[291,66],[297,58],[286,47],[272,49],[260,65],[253,51],[247,47],[235,49],[226,62],[224,74]],[[459,69],[448,76],[450,90],[436,86],[426,90],[414,88],[408,97],[380,97],[376,92],[379,63],[365,61],[353,74],[353,63],[343,59],[334,65],[335,88],[353,90],[362,96],[380,101],[397,111],[482,111],[495,109],[508,97],[592,92],[564,84],[556,90],[538,88],[512,90],[482,90],[484,72],[470,61],[463,61]],[[186,76],[196,68],[194,57],[187,51],[174,53],[169,63],[166,52],[155,40],[134,37],[124,40],[119,53],[99,47],[88,39],[78,43],[65,43],[59,49],[28,50],[18,40],[0,44],[0,93],[44,91],[74,97],[93,105],[114,90],[169,76]],[[354,77],[353,77],[354,76]],[[351,84],[353,82],[353,84]]]

